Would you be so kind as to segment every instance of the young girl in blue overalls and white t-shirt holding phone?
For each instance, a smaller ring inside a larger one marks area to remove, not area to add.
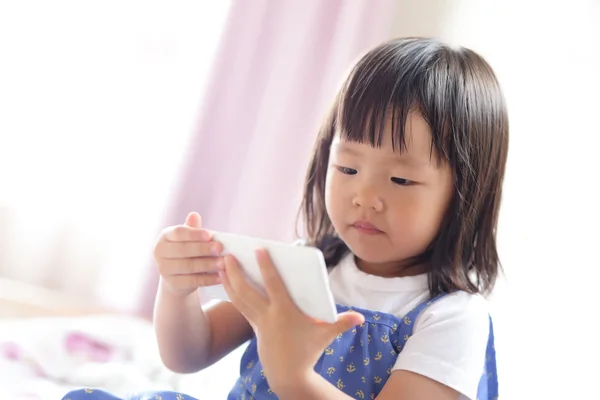
[[[373,49],[325,119],[304,188],[306,244],[325,255],[338,322],[300,312],[262,250],[266,296],[252,289],[192,213],[155,249],[164,363],[198,371],[250,340],[232,400],[496,398],[483,295],[507,148],[503,96],[476,53],[426,38]],[[218,283],[232,302],[202,310],[197,288]],[[66,397],[92,395],[110,398]]]

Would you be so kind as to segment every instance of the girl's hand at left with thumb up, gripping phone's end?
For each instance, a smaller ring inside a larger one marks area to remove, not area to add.
[[[217,272],[224,265],[222,251],[223,246],[202,229],[200,215],[190,213],[184,225],[162,231],[154,247],[154,259],[166,289],[185,297],[199,287],[221,283]]]

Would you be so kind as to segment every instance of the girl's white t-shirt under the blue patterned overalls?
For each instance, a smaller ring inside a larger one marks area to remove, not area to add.
[[[382,278],[358,269],[354,255],[329,273],[337,303],[403,318],[429,297],[427,275]],[[483,373],[489,334],[483,296],[455,292],[427,307],[415,321],[413,335],[392,368],[426,376],[475,399]]]

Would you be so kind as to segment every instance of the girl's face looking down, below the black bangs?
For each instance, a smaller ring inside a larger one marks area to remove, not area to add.
[[[419,113],[411,112],[407,118],[406,151],[393,150],[391,121],[384,133],[381,148],[336,136],[325,202],[333,226],[358,258],[359,267],[392,276],[398,274],[399,264],[421,254],[436,236],[453,183],[450,166],[437,165],[431,131]]]

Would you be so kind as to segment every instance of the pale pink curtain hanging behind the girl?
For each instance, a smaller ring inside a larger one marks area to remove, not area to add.
[[[352,62],[393,36],[398,3],[234,1],[163,226],[198,211],[210,229],[291,240],[320,120]]]

